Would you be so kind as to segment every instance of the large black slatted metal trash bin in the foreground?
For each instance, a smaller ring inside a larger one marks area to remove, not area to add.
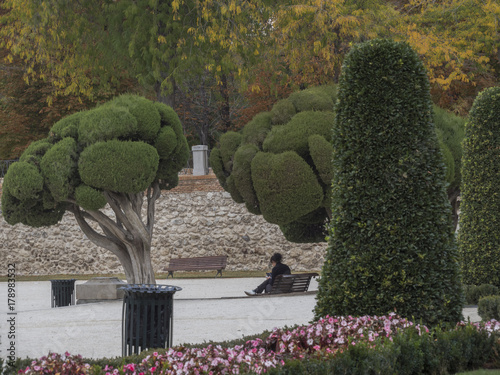
[[[150,348],[172,345],[175,292],[181,287],[129,284],[122,289],[122,354],[139,354]]]

